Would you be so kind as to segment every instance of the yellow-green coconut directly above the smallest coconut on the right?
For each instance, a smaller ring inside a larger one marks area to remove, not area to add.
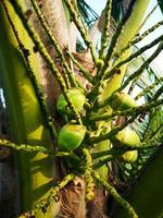
[[[130,128],[124,128],[113,138],[117,145],[134,146],[140,143],[139,135]]]

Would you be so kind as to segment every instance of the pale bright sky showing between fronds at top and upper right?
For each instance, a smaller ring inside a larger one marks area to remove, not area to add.
[[[100,15],[101,11],[104,9],[104,5],[106,3],[106,0],[86,0],[86,2]],[[147,9],[147,12],[145,16],[156,5],[156,0],[150,0],[149,7]],[[146,29],[158,23],[159,21],[163,20],[163,14],[158,7],[154,13],[151,15],[151,17],[148,20],[143,28],[140,33],[143,33]],[[153,34],[150,34],[150,36],[146,37],[146,39],[142,40],[141,44],[138,44],[138,47],[143,46],[145,44],[149,44],[153,40],[153,38],[159,37],[163,34],[163,26],[159,27]],[[150,56],[156,47],[153,47],[152,49],[148,50],[146,55]],[[153,61],[154,64],[158,65],[158,70],[163,69],[163,51],[158,56],[158,58]],[[163,72],[163,70],[161,70]]]

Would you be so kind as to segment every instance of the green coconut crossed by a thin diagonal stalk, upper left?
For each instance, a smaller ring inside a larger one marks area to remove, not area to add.
[[[68,95],[70,99],[72,100],[74,107],[78,111],[82,111],[82,109],[86,102],[86,96],[85,96],[84,92],[80,88],[71,88],[67,90],[67,95]],[[57,109],[61,114],[66,114],[66,116],[73,114],[63,94],[61,94],[59,96],[59,99],[57,102]]]

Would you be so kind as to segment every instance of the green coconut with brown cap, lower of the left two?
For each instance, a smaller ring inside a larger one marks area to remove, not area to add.
[[[76,149],[83,142],[86,126],[79,124],[65,124],[59,132],[58,146],[60,150],[71,152]]]

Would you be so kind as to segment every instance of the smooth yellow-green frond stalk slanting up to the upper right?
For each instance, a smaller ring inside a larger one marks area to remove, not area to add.
[[[109,2],[110,1],[108,1],[108,4],[109,4]],[[131,10],[131,15],[127,20],[127,22],[124,24],[123,32],[120,34],[120,38],[118,38],[116,45],[113,46],[114,52],[118,52],[122,48],[124,48],[130,41],[130,39],[137,34],[139,26],[141,24],[141,21],[143,19],[145,11],[148,7],[148,3],[149,3],[149,0],[143,1],[143,2],[137,1],[135,3],[135,5]],[[108,19],[109,19],[108,23],[110,23],[110,17],[108,16]],[[108,29],[105,29],[105,31],[109,31],[109,27],[110,27],[110,25],[108,25]],[[115,32],[115,35],[117,33]],[[113,36],[113,37],[115,37],[115,36]],[[109,43],[109,38],[108,37],[105,37],[105,38],[106,38],[105,40]],[[112,44],[111,44],[111,46],[112,46]],[[126,57],[128,57],[130,55],[130,52],[131,52],[131,48],[128,49],[123,55],[122,59],[125,59]],[[105,64],[105,68],[106,68],[106,64]],[[117,73],[115,73],[113,76],[110,77],[109,82],[105,82],[106,85],[100,96],[101,101],[104,101],[105,99],[110,98],[112,96],[112,94],[117,88],[121,87],[122,80],[125,75],[125,71],[126,71],[126,64],[122,65],[122,68],[117,71]],[[115,94],[115,96],[116,95],[118,95],[118,94]],[[115,100],[114,100],[114,104],[115,104]],[[117,104],[122,104],[122,100],[121,100],[121,102],[117,102]],[[131,106],[133,105],[134,104],[131,104]],[[103,113],[105,110],[108,110],[109,113],[112,113],[112,108],[110,106],[105,107],[104,109],[100,109],[99,112]],[[108,123],[108,125],[111,125],[111,123],[110,124]],[[101,143],[100,143],[100,146],[101,146]],[[102,149],[103,150],[108,149],[108,147],[102,146]],[[101,150],[100,147],[99,147],[99,150]]]

